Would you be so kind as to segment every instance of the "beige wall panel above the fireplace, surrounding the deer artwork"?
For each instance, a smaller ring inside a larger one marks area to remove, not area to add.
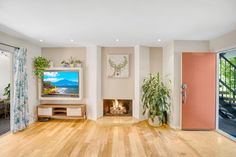
[[[134,48],[102,48],[102,98],[103,99],[133,99],[134,98]],[[107,77],[107,55],[129,54],[129,77],[108,78]]]

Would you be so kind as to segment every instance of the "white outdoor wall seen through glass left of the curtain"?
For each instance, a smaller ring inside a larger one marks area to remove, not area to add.
[[[1,53],[1,50],[0,50]],[[0,99],[6,98],[3,96],[4,88],[11,82],[11,60],[10,54],[7,56],[0,54]]]

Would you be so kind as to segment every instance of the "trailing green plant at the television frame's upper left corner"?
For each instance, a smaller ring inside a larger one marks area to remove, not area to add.
[[[45,69],[50,67],[50,60],[44,57],[35,57],[33,59],[34,74],[41,78]]]

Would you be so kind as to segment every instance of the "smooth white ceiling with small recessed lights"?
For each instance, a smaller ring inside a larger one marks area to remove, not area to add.
[[[162,46],[234,29],[236,0],[0,0],[0,31],[44,47]]]

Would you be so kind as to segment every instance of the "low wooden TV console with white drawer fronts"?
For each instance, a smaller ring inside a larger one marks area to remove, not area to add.
[[[86,119],[85,104],[41,104],[37,108],[38,118]]]

